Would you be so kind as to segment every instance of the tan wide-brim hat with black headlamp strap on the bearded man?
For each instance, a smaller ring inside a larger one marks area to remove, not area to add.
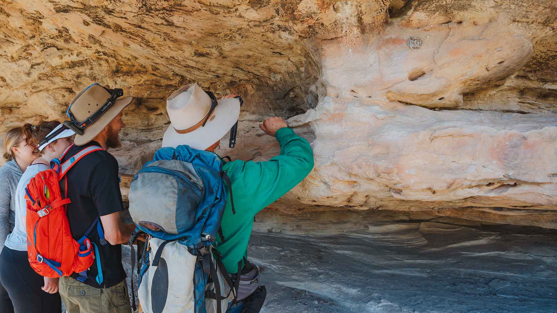
[[[116,99],[123,94],[121,89],[108,89],[95,83],[74,97],[67,114],[72,123],[83,131],[82,135],[76,131],[76,145],[89,143],[131,103],[133,97]]]

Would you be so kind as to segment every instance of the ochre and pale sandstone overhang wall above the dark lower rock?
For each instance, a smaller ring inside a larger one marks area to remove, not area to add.
[[[124,111],[129,182],[165,99],[198,82],[245,99],[236,148],[278,153],[289,119],[315,168],[268,210],[423,211],[557,228],[557,4],[534,0],[25,1],[0,5],[2,131],[65,119],[99,82]],[[226,141],[226,143],[225,143]],[[127,175],[127,176],[126,176]]]

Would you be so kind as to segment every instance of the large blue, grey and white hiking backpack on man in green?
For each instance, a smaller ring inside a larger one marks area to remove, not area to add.
[[[214,248],[226,204],[223,179],[230,188],[216,154],[181,145],[157,150],[131,181],[135,237],[147,234],[138,257],[144,312],[223,313],[234,300],[234,285]]]

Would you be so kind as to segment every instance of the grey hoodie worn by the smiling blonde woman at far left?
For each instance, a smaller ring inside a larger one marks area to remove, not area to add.
[[[22,170],[12,159],[0,168],[0,249],[16,222],[16,189]]]

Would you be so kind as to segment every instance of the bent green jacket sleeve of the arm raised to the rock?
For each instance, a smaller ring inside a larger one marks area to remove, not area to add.
[[[314,167],[313,151],[304,138],[290,128],[276,133],[280,155],[267,162],[244,162],[239,177],[250,199],[253,215],[299,184]]]

